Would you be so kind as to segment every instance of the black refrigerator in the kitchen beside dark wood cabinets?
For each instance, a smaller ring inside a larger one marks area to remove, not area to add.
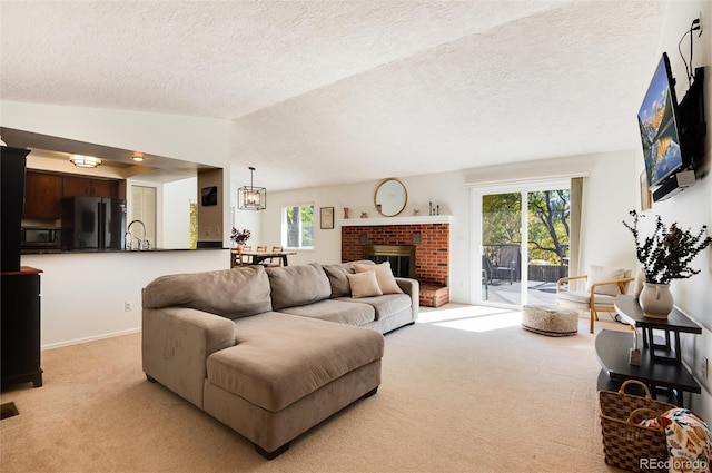
[[[123,249],[126,200],[65,197],[62,249]]]

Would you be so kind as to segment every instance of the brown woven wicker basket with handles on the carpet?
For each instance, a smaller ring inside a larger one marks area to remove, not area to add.
[[[629,384],[637,384],[645,392],[645,397],[625,393]],[[619,469],[632,472],[660,471],[645,467],[655,464],[642,459],[668,461],[668,443],[662,421],[657,428],[639,425],[642,420],[660,417],[674,404],[655,401],[647,386],[636,380],[627,380],[615,391],[599,391],[599,408],[601,412],[601,436],[605,462]],[[641,467],[643,466],[643,467]]]

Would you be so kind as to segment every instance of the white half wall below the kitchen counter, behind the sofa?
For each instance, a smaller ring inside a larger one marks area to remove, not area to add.
[[[222,249],[22,255],[42,269],[41,346],[70,345],[138,332],[141,288],[158,276],[228,267]],[[125,312],[125,302],[132,309]]]

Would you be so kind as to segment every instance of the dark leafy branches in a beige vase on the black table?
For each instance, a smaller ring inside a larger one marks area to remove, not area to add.
[[[623,220],[623,225],[633,234],[635,254],[645,275],[639,299],[641,308],[646,316],[665,318],[673,305],[671,280],[686,279],[700,273],[700,269],[691,268],[690,263],[712,243],[712,237],[705,236],[706,225],[693,235],[689,229],[678,227],[676,223],[664,225],[657,215],[653,234],[641,240],[637,223],[644,215],[635,210],[630,214],[633,224]]]

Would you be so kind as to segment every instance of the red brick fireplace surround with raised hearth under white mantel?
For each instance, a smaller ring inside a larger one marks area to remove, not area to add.
[[[342,262],[367,259],[366,250],[374,246],[415,248],[412,277],[421,283],[421,305],[437,307],[448,302],[449,224],[416,224],[407,219],[392,225],[377,220],[377,225],[342,225]]]

